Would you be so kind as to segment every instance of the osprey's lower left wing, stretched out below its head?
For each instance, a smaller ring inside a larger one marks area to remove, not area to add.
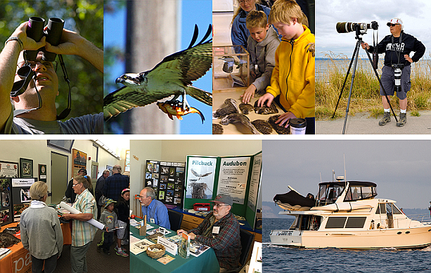
[[[121,112],[126,112],[133,107],[149,105],[157,100],[167,98],[172,93],[168,92],[139,92],[136,89],[123,86],[103,98],[103,118],[105,121]]]

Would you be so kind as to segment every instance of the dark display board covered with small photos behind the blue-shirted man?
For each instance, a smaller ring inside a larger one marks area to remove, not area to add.
[[[152,187],[163,204],[183,208],[184,162],[146,161],[146,187]]]

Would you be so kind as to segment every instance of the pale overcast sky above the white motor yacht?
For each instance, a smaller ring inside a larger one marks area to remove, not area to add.
[[[377,184],[380,198],[399,208],[427,208],[431,201],[430,140],[264,140],[262,201],[288,192],[316,196],[323,182],[347,180]]]

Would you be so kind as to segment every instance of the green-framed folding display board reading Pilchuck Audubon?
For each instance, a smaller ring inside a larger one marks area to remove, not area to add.
[[[233,199],[231,212],[255,227],[262,152],[240,157],[187,156],[186,164],[184,208],[210,203],[217,194],[227,194]],[[205,189],[203,194],[202,189]]]

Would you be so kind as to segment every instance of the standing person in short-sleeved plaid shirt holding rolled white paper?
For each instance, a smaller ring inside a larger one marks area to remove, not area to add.
[[[77,194],[77,199],[72,205],[79,214],[65,214],[65,220],[73,220],[72,246],[70,247],[70,265],[72,273],[87,272],[86,252],[89,250],[91,241],[96,235],[96,227],[86,222],[94,218],[96,212],[96,200],[87,189],[89,182],[82,175],[73,178],[72,188]]]

